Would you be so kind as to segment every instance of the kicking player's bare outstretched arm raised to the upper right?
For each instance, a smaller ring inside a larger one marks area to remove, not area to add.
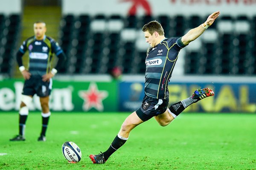
[[[207,20],[201,24],[200,26],[193,28],[189,30],[188,33],[186,33],[182,38],[181,41],[183,42],[184,45],[188,45],[189,42],[194,41],[197,39],[201,34],[204,33],[204,31],[212,25],[212,23],[218,18],[220,14],[220,11],[216,11],[212,14],[209,15]]]

